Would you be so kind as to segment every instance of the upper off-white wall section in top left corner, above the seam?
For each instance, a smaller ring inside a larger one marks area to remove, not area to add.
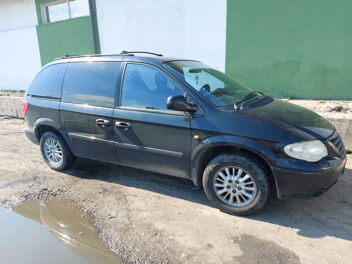
[[[0,32],[36,25],[34,0],[0,0]]]

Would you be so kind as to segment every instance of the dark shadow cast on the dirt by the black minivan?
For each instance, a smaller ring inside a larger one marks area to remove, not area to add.
[[[192,191],[193,182],[184,178],[84,158],[77,158],[75,165],[63,173],[144,189],[214,208],[203,189]],[[352,241],[351,189],[352,170],[346,168],[337,184],[323,196],[310,200],[279,200],[273,191],[260,212],[244,218],[295,228],[303,237],[331,236]]]

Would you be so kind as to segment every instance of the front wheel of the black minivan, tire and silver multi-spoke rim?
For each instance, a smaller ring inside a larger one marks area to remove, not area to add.
[[[263,164],[239,151],[212,159],[203,174],[203,187],[214,206],[234,215],[258,211],[270,195],[269,175]]]

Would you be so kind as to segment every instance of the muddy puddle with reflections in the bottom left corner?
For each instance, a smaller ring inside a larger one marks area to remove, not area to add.
[[[12,210],[0,207],[0,262],[122,263],[83,214],[67,200],[32,200]]]

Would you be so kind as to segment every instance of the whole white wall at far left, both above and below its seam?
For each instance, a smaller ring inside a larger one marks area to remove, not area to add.
[[[0,0],[0,90],[27,89],[42,67],[34,0]]]

